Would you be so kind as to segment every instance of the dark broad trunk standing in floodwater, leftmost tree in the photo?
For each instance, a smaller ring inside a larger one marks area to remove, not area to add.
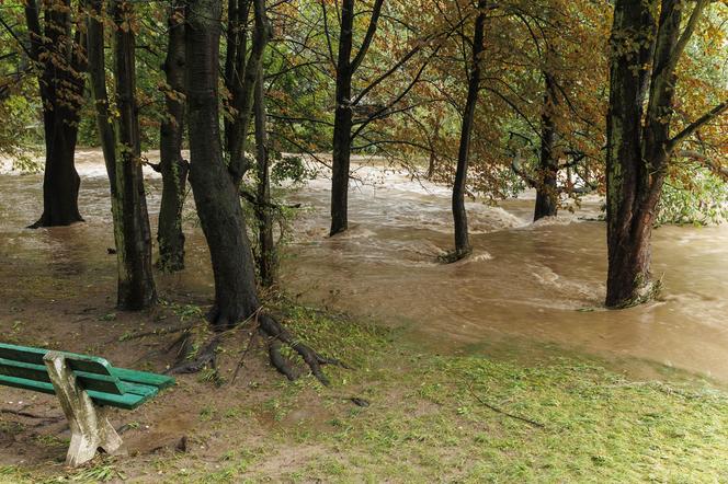
[[[78,209],[81,180],[73,162],[84,85],[81,37],[78,31],[76,38],[71,34],[69,0],[44,2],[43,32],[34,0],[27,1],[25,18],[30,53],[42,66],[38,85],[46,149],[43,215],[31,228],[69,226],[83,221]]]

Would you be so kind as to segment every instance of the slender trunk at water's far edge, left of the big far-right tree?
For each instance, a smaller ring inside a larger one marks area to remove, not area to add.
[[[536,178],[536,206],[534,208],[534,221],[543,217],[554,217],[558,212],[558,160],[554,153],[556,145],[556,126],[554,124],[554,106],[557,94],[556,84],[549,72],[544,72],[544,112],[541,115],[541,158],[538,163],[538,176]]]

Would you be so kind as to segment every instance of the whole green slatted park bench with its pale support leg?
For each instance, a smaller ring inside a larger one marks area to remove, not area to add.
[[[0,385],[55,394],[71,429],[66,463],[80,465],[101,448],[120,453],[107,407],[133,410],[174,384],[164,374],[114,368],[104,358],[0,343]]]

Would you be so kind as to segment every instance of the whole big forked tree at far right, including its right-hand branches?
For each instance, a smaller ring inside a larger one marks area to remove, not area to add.
[[[681,28],[680,0],[662,0],[659,19],[644,2],[615,4],[607,117],[606,306],[649,300],[650,238],[670,157],[682,140],[728,110],[728,101],[670,138],[675,68],[708,0],[698,0]],[[647,113],[642,119],[642,106]]]

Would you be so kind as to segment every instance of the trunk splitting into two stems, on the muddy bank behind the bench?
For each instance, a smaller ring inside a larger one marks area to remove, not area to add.
[[[151,272],[151,232],[139,158],[139,126],[135,100],[134,34],[117,28],[114,34],[114,74],[118,116],[110,111],[104,69],[104,35],[101,0],[91,2],[88,20],[88,58],[96,106],[101,146],[111,185],[114,240],[118,272],[117,306],[140,310],[157,300]],[[114,2],[117,25],[128,22],[130,4]],[[128,25],[128,23],[127,23]]]

